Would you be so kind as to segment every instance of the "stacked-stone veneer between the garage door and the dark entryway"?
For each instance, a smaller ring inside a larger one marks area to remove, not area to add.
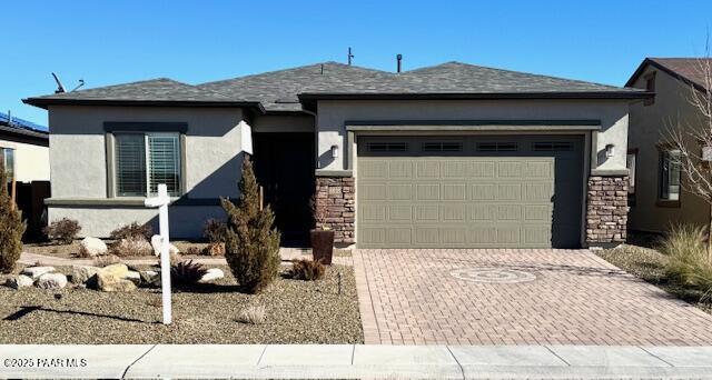
[[[352,177],[317,177],[316,207],[323,211],[317,218],[317,228],[328,227],[334,233],[334,242],[355,242],[356,192]],[[318,220],[322,219],[322,220]]]

